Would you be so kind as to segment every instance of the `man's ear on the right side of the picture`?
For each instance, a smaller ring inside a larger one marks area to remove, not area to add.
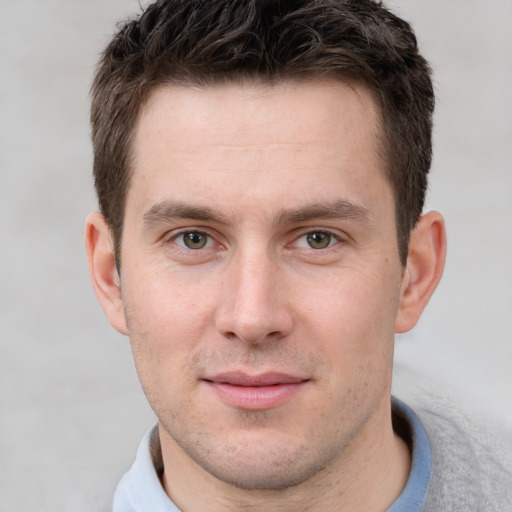
[[[424,214],[411,233],[395,331],[407,332],[418,322],[444,269],[446,231],[439,212]]]

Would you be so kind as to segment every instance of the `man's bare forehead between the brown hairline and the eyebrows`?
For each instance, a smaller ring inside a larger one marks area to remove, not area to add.
[[[352,193],[382,185],[379,133],[372,94],[339,81],[161,87],[135,131],[127,206],[169,194],[272,206],[283,200],[269,193],[278,185],[295,198],[336,201],[324,197],[333,178],[349,176]]]

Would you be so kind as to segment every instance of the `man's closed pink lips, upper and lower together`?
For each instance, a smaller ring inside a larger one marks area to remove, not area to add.
[[[278,372],[260,375],[227,372],[203,381],[227,405],[262,411],[283,405],[301,391],[309,379]]]

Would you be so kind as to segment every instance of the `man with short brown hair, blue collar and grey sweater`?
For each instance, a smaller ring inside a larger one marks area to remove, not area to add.
[[[504,509],[391,400],[446,252],[422,214],[433,105],[370,0],[158,1],[120,29],[86,244],[158,426],[114,510]]]

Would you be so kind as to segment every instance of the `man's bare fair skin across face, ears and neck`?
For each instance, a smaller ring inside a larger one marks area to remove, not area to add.
[[[182,510],[385,510],[403,489],[394,334],[418,320],[446,243],[426,214],[400,264],[378,119],[339,82],[162,88],[135,132],[120,278],[89,217],[93,284],[130,337]],[[300,383],[233,403],[212,385],[233,372]]]

